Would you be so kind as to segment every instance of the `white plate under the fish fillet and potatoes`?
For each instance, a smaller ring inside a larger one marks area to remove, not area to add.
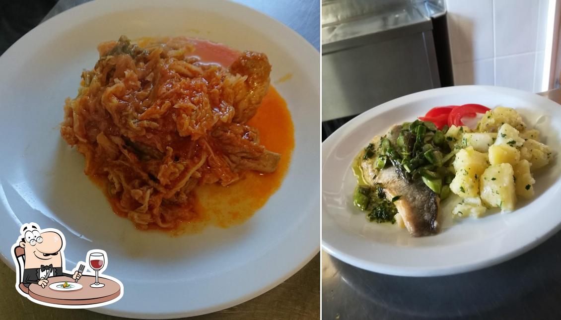
[[[350,169],[356,154],[394,123],[412,121],[440,105],[504,105],[536,127],[542,141],[559,152],[561,106],[528,92],[489,86],[458,86],[417,92],[359,115],[339,128],[322,149],[322,247],[344,262],[400,276],[437,276],[476,270],[517,256],[559,230],[560,161],[535,175],[536,196],[517,210],[481,219],[466,218],[435,236],[411,238],[405,229],[367,222],[353,207],[356,178]],[[441,212],[442,214],[442,212]],[[539,263],[539,262],[536,262]]]

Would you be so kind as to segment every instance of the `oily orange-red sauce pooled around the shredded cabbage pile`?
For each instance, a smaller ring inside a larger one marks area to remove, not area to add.
[[[142,46],[143,41],[149,40],[140,39],[139,45]],[[199,57],[203,63],[218,63],[228,67],[241,53],[208,40],[190,41],[195,47],[192,55]],[[228,228],[242,224],[277,191],[288,171],[294,149],[294,126],[286,102],[272,85],[269,86],[257,113],[247,124],[259,130],[260,143],[267,150],[282,155],[277,170],[267,174],[247,171],[240,175],[240,180],[227,187],[218,183],[199,185],[195,189],[195,215],[192,219],[183,221],[176,229],[163,230],[171,231],[172,234],[183,234],[199,232],[209,225]],[[110,199],[113,211],[119,214],[114,201],[116,200]],[[162,228],[152,224],[149,225],[149,229]]]

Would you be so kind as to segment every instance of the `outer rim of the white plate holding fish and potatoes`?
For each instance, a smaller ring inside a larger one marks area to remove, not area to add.
[[[321,143],[321,150],[322,150],[322,159],[321,159],[321,168],[322,168],[322,175],[323,175],[323,168],[324,165],[328,161],[328,154],[330,154],[334,147],[338,145],[338,142],[346,137],[347,131],[353,127],[358,127],[360,124],[365,123],[369,119],[373,119],[377,117],[379,114],[388,112],[388,109],[397,108],[400,105],[403,105],[407,102],[411,102],[412,99],[415,100],[424,100],[428,98],[434,98],[435,96],[445,95],[454,93],[457,91],[464,90],[466,92],[470,91],[482,91],[482,90],[490,90],[491,92],[497,92],[501,94],[516,94],[517,96],[523,95],[527,98],[534,97],[538,98],[542,101],[547,101],[548,104],[555,104],[561,109],[561,105],[556,101],[550,100],[545,98],[544,96],[537,95],[536,93],[527,92],[518,89],[512,89],[508,87],[500,87],[500,86],[487,86],[487,85],[461,85],[461,86],[451,86],[451,87],[441,87],[435,89],[428,89],[419,92],[413,92],[412,94],[408,94],[405,96],[401,96],[396,99],[392,99],[387,101],[383,104],[379,104],[373,106],[373,108],[366,110],[365,112],[357,115],[357,117],[351,119],[347,123],[343,124],[343,126],[339,127],[335,132],[332,133],[323,143]],[[425,96],[424,98],[422,98]],[[422,98],[422,99],[421,99]],[[339,131],[339,133],[338,133]],[[337,133],[337,135],[336,135]],[[327,152],[326,152],[327,151]],[[323,177],[322,177],[323,178]],[[534,240],[529,241],[523,245],[519,245],[516,248],[513,248],[507,252],[499,254],[495,257],[491,258],[482,258],[477,259],[475,261],[469,263],[463,263],[462,265],[455,265],[455,266],[439,266],[439,267],[411,267],[411,266],[396,266],[390,265],[387,263],[380,263],[375,261],[370,261],[368,259],[364,259],[361,257],[353,256],[350,253],[344,252],[337,248],[336,244],[330,243],[327,238],[324,237],[324,219],[325,216],[328,216],[328,213],[325,208],[324,203],[324,196],[323,196],[323,179],[322,179],[322,195],[321,195],[321,225],[322,225],[322,237],[321,237],[321,248],[333,256],[349,265],[361,268],[363,270],[383,273],[385,275],[392,275],[392,276],[406,276],[406,277],[434,277],[434,276],[447,276],[447,275],[456,275],[459,273],[465,273],[470,271],[480,270],[482,268],[498,265],[499,263],[508,261],[514,257],[517,257],[525,252],[530,251],[531,249],[537,247],[541,243],[545,242],[545,240],[549,239],[554,234],[558,233],[561,230],[561,220],[558,222],[557,225],[550,228],[544,234],[540,234],[536,236]],[[328,218],[329,220],[330,218]],[[335,224],[336,225],[336,224]],[[338,231],[345,232],[341,228],[337,227]]]

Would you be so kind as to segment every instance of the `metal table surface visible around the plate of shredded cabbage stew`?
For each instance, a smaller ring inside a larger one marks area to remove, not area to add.
[[[43,21],[85,2],[88,1],[60,0]],[[234,0],[234,2],[245,4],[283,22],[319,50],[319,0]],[[319,256],[318,253],[295,275],[263,295],[235,307],[192,319],[319,319]],[[0,263],[0,318],[2,319],[119,319],[85,309],[57,309],[32,303],[16,292],[14,281],[15,273],[4,263]]]

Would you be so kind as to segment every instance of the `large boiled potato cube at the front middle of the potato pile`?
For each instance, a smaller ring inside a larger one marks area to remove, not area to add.
[[[516,205],[514,170],[509,163],[491,165],[480,179],[481,200],[488,207],[512,211]]]

